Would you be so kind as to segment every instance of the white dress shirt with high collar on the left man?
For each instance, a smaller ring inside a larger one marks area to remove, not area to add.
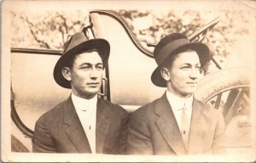
[[[82,123],[84,132],[90,143],[92,154],[96,154],[96,104],[97,96],[91,99],[79,98],[72,93],[71,95],[73,105],[79,120]]]

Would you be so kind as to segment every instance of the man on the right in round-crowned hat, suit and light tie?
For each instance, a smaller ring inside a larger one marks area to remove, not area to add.
[[[224,152],[224,119],[218,110],[195,99],[205,44],[173,33],[154,48],[158,67],[151,80],[166,93],[132,115],[127,150],[132,155],[209,155]]]

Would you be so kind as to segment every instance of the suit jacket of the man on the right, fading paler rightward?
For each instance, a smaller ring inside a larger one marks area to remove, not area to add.
[[[224,152],[224,119],[218,110],[194,98],[189,148],[166,94],[131,115],[127,150],[132,155],[199,155]]]

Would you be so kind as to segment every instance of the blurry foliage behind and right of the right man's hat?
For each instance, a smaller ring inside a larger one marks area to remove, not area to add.
[[[131,25],[134,34],[144,44],[147,42],[157,43],[162,37],[173,32],[180,32],[189,37],[208,23],[201,17],[201,15],[207,14],[207,12],[209,11],[187,10],[180,17],[172,11],[166,14],[155,14],[152,11],[119,10],[119,14]],[[207,37],[204,40],[204,42],[211,45],[215,55],[225,58],[230,54],[230,44],[237,41],[236,37],[248,33],[247,24],[249,21],[246,18],[247,14],[241,10],[225,10],[217,13],[216,17],[219,15],[223,16],[223,22],[215,25],[211,31],[208,31]],[[143,17],[151,17],[151,25],[148,25],[147,28],[136,29],[134,27],[135,20],[142,19]]]

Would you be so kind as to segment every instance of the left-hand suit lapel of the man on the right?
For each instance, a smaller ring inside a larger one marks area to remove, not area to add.
[[[171,105],[169,104],[166,93],[160,98],[155,106],[155,113],[159,115],[156,121],[161,134],[166,139],[166,142],[174,150],[177,155],[186,155],[182,135],[177,126],[177,121],[173,115]]]

